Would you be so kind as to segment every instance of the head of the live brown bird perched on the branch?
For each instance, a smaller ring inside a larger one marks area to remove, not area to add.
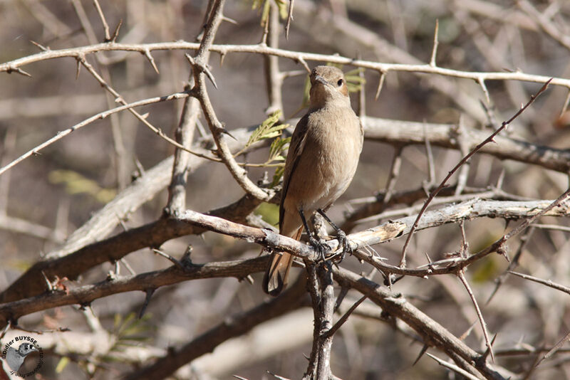
[[[311,71],[311,107],[323,107],[328,102],[350,105],[346,79],[338,68],[316,66]]]

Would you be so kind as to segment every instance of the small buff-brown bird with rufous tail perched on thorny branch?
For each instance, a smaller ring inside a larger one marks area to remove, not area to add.
[[[285,162],[279,206],[279,233],[299,240],[303,227],[309,243],[324,257],[326,246],[317,241],[305,217],[318,212],[336,230],[343,252],[346,235],[324,211],[344,193],[358,166],[363,143],[362,125],[351,107],[343,72],[317,66],[311,72],[309,112],[299,120]],[[264,277],[264,291],[279,295],[289,277],[293,257],[273,253]]]

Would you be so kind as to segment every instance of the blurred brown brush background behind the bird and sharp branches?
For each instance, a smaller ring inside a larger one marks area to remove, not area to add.
[[[215,43],[259,43],[264,31],[260,25],[263,3],[227,1],[224,15],[235,23],[222,23]],[[338,53],[385,63],[429,63],[437,20],[436,63],[440,67],[569,76],[570,3],[566,1],[296,0],[294,4],[294,21],[288,39],[280,28],[279,47],[285,50]],[[111,31],[119,21],[123,22],[117,39],[120,43],[196,41],[202,31],[206,5],[206,1],[192,0],[100,0]],[[86,26],[90,26],[90,30]],[[56,50],[100,43],[103,38],[103,27],[92,1],[0,0],[2,63],[38,53],[40,50],[32,41]],[[140,53],[103,52],[89,55],[87,60],[127,102],[134,102],[183,90],[190,73],[184,53],[153,51],[160,74]],[[308,63],[311,67],[321,64]],[[212,53],[210,65],[218,88],[209,84],[209,95],[219,120],[230,131],[261,124],[269,106],[264,58],[250,53],[228,53],[222,62],[218,54]],[[279,58],[279,67],[284,72],[304,70],[302,65],[285,58]],[[115,107],[113,97],[105,94],[87,70],[81,68],[76,75],[74,58],[41,60],[22,69],[30,73],[31,78],[16,73],[0,75],[0,166],[58,131]],[[517,80],[489,80],[485,82],[489,102],[481,86],[473,80],[390,72],[385,76],[378,100],[374,100],[379,75],[371,71],[363,75],[366,80],[363,112],[368,117],[461,123],[466,128],[488,131],[509,119],[541,87],[538,83]],[[282,96],[286,119],[300,117],[305,112],[299,110],[305,83],[306,75],[291,75],[284,80]],[[567,89],[551,86],[517,118],[505,135],[566,149],[570,125],[570,114],[564,112],[567,93]],[[360,107],[358,94],[352,94],[352,101],[355,109]],[[182,104],[182,100],[163,102],[142,107],[139,112],[148,112],[147,120],[172,137]],[[201,122],[207,131],[203,118]],[[207,137],[207,132],[197,133],[197,139],[202,137]],[[365,142],[353,183],[331,209],[329,215],[333,221],[341,221],[347,211],[358,207],[361,202],[358,199],[375,196],[385,189],[397,148]],[[128,186],[133,176],[152,168],[173,152],[172,145],[130,113],[122,112],[71,133],[1,175],[0,289],[6,288],[45,253],[57,248],[95,211]],[[458,151],[437,147],[433,147],[433,154],[437,182],[462,157]],[[267,149],[259,149],[246,159],[264,162],[266,157]],[[264,171],[272,176],[273,170],[251,169],[249,176],[257,181]],[[421,188],[428,179],[425,147],[403,148],[395,191]],[[525,199],[555,199],[567,188],[568,177],[491,155],[478,154],[472,159],[467,186],[487,188],[499,180],[502,180],[502,189],[509,194]],[[187,208],[195,211],[206,212],[225,206],[243,195],[226,167],[214,162],[197,167],[188,183]],[[111,235],[123,228],[156,220],[166,201],[165,189],[130,213]],[[266,207],[263,213],[271,217],[275,211]],[[567,225],[564,218],[544,218],[543,221]],[[352,232],[377,224],[378,220],[361,223]],[[491,218],[465,223],[470,251],[475,253],[502,236],[505,228],[512,228],[512,224],[507,224],[502,219]],[[568,238],[564,231],[537,228],[529,235],[520,264],[541,278],[568,284]],[[457,251],[460,243],[460,228],[455,224],[420,231],[408,250],[410,263],[424,264],[425,253],[432,260],[445,258]],[[214,233],[178,238],[165,243],[162,250],[180,258],[189,244],[195,263],[259,254],[259,246]],[[514,239],[509,244],[509,253],[514,254],[520,244]],[[395,264],[402,245],[400,238],[375,248],[388,262]],[[135,273],[167,268],[171,264],[150,249],[131,253],[126,260]],[[509,278],[492,302],[485,304],[494,289],[494,280],[507,265],[500,255],[490,255],[472,265],[467,278],[482,305],[489,331],[498,333],[496,351],[519,349],[517,354],[508,356],[496,352],[498,364],[520,374],[529,370],[536,357],[529,353],[528,347],[551,347],[568,332],[569,302],[568,295],[561,292]],[[370,271],[354,258],[347,258],[343,266],[357,272]],[[112,269],[113,265],[105,263],[85,273],[77,283],[103,280]],[[378,278],[376,280],[381,282],[380,276]],[[141,362],[148,364],[151,358],[162,357],[167,347],[180,346],[225,317],[264,300],[266,295],[259,286],[261,274],[254,279],[254,285],[226,278],[162,287],[152,298],[143,320],[132,317],[133,312],[140,310],[144,295],[125,293],[93,302],[96,317],[77,307],[61,307],[28,315],[19,322],[34,330],[56,327],[72,330],[41,336],[40,342],[48,354],[38,378],[116,378]],[[456,336],[472,327],[465,340],[470,347],[484,351],[475,311],[459,280],[452,276],[435,276],[430,280],[404,278],[395,288]],[[358,295],[349,293],[348,298],[356,300]],[[332,355],[336,376],[343,379],[452,377],[427,357],[413,366],[422,344],[396,331],[403,329],[410,334],[411,330],[399,323],[379,322],[381,310],[372,305],[362,305],[364,311],[370,312],[368,317],[351,317],[336,335]],[[93,327],[94,323],[97,328]],[[105,345],[100,341],[108,336],[115,337],[120,344]],[[307,364],[304,354],[311,352],[311,338],[312,312],[309,308],[301,309],[260,325],[249,338],[224,343],[211,357],[202,357],[185,366],[177,376],[180,379],[228,379],[231,374],[238,374],[248,379],[271,379],[266,374],[269,370],[291,379],[300,378]],[[70,342],[61,344],[61,339]],[[132,348],[129,344],[144,354],[139,352],[140,357],[137,357],[135,349],[128,351]],[[562,352],[531,378],[570,378],[568,359]]]

